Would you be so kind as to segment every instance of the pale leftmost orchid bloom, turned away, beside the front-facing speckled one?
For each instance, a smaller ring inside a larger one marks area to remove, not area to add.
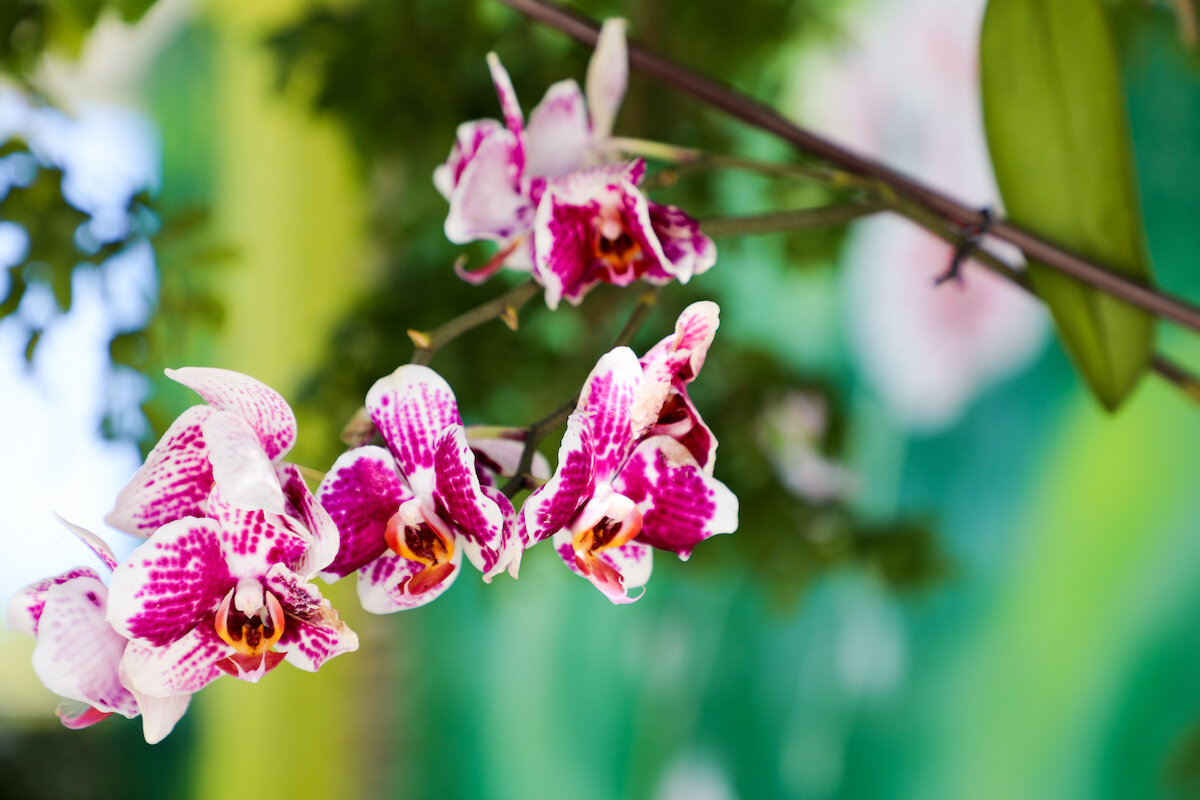
[[[60,518],[61,519],[61,518]],[[116,559],[100,537],[61,521],[109,569]],[[8,630],[29,633],[34,672],[55,694],[73,700],[59,706],[67,728],[86,728],[113,714],[142,715],[149,744],[161,741],[187,710],[191,694],[148,697],[127,685],[121,670],[127,639],[106,621],[108,588],[89,567],[37,581],[13,596]]]

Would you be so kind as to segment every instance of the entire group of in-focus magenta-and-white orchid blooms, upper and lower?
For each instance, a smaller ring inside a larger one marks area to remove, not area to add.
[[[641,161],[604,160],[625,61],[624,28],[610,22],[587,101],[574,82],[556,84],[526,125],[490,56],[504,124],[461,126],[434,174],[450,200],[450,239],[500,243],[492,264],[466,277],[532,270],[553,308],[600,282],[688,281],[712,266],[696,222],[637,188]],[[64,724],[140,715],[155,742],[222,675],[257,682],[283,661],[316,672],[358,649],[318,576],[356,575],[364,609],[385,614],[436,600],[467,564],[484,582],[516,578],[524,551],[551,539],[568,569],[612,602],[632,602],[654,549],[686,559],[737,528],[737,498],[713,475],[716,439],[688,395],[718,313],[694,303],[641,359],[628,347],[605,354],[552,475],[524,440],[532,428],[466,427],[449,384],[412,363],[367,392],[376,438],[337,458],[314,494],[284,461],[296,420],[277,392],[224,369],[167,371],[206,402],[175,420],[106,518],[144,541],[119,561],[65,523],[109,581],[77,567],[34,583],[12,600],[10,627],[36,638],[35,672],[71,702]]]

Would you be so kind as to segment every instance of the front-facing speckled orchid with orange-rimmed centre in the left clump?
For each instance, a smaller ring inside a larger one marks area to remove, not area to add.
[[[358,637],[308,581],[334,555],[336,528],[293,467],[293,513],[239,509],[220,486],[208,516],[167,523],[113,571],[108,621],[130,639],[131,690],[199,691],[222,674],[256,682],[281,661],[316,672]],[[332,545],[332,546],[331,546]]]

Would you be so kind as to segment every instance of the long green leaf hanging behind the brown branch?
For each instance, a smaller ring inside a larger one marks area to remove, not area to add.
[[[1097,0],[991,0],[980,44],[984,122],[1016,224],[1150,283],[1116,52]],[[1030,264],[1033,288],[1109,410],[1153,351],[1151,315]]]

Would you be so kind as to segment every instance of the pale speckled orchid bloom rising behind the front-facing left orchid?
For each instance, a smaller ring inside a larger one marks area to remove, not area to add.
[[[278,392],[228,369],[185,367],[167,375],[209,404],[179,415],[104,522],[144,539],[169,522],[205,516],[214,483],[239,509],[288,513],[282,483],[294,480],[294,468],[281,459],[295,444],[296,420]]]

